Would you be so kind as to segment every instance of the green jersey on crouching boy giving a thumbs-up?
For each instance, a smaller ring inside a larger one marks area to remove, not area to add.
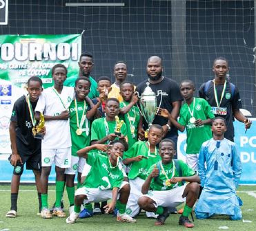
[[[182,176],[194,176],[196,173],[193,171],[186,163],[184,163],[182,160],[177,161],[179,164],[180,171],[182,173]],[[159,160],[156,164],[152,165],[149,168],[147,176],[153,171],[155,165],[159,169],[159,175],[156,178],[153,178],[150,184],[150,189],[152,191],[165,191],[170,190],[172,188],[180,187],[182,186],[182,182],[177,182],[175,184],[171,184],[170,186],[166,185],[166,180],[171,179],[172,177],[178,177],[179,172],[175,168],[174,161],[169,164],[162,164],[162,161]],[[174,165],[174,174],[173,174],[173,165]],[[164,174],[165,172],[165,174]]]

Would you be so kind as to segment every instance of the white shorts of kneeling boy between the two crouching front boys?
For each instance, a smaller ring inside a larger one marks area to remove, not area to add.
[[[130,215],[131,217],[135,217],[139,214],[139,205],[138,199],[142,196],[141,187],[144,184],[144,180],[140,179],[139,177],[135,178],[134,180],[129,180],[129,184],[131,186],[130,195],[127,201],[127,206],[125,212]],[[147,217],[156,218],[157,215],[152,212],[146,212]]]

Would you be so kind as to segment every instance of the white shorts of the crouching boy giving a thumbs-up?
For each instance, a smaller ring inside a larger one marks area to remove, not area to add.
[[[154,206],[177,207],[186,201],[186,197],[182,198],[186,185],[166,191],[149,191],[148,194],[142,195],[151,198],[155,203]]]

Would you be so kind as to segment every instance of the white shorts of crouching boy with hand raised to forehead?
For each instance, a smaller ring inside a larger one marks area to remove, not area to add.
[[[126,181],[123,181],[119,190],[126,184],[129,184]],[[80,187],[75,192],[75,196],[78,195],[86,195],[87,199],[84,200],[84,203],[91,203],[91,202],[102,202],[107,201],[109,199],[112,199],[112,190],[100,190],[99,188],[86,188],[86,187]],[[119,198],[119,194],[117,196],[117,199]]]

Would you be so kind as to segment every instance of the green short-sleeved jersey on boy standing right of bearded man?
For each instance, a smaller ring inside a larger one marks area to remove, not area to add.
[[[195,107],[193,109],[193,101],[189,105],[190,111],[193,111],[195,119],[206,120],[208,118],[214,118],[209,103],[202,98],[195,97]],[[187,154],[199,153],[200,147],[203,142],[212,138],[212,130],[210,124],[203,124],[196,126],[194,123],[190,123],[189,119],[191,114],[188,109],[187,103],[184,103],[180,108],[179,124],[186,126],[187,130]]]

